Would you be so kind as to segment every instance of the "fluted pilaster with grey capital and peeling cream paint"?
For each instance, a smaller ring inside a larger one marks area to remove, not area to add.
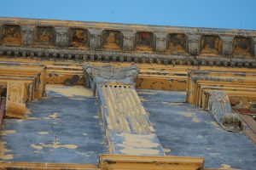
[[[110,154],[165,156],[135,87],[137,66],[84,65],[85,82],[96,90]],[[129,142],[132,139],[133,142]],[[144,143],[152,143],[145,145]],[[139,146],[139,150],[138,150]]]

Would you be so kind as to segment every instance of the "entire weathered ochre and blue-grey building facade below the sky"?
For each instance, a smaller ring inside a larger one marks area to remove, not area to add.
[[[1,168],[254,169],[256,31],[0,18]]]

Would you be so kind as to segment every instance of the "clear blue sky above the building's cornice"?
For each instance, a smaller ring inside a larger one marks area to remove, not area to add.
[[[2,0],[0,16],[256,30],[256,0]]]

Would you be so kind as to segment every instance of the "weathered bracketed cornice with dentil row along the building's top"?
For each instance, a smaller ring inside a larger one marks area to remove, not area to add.
[[[0,54],[256,67],[256,31],[0,18]]]

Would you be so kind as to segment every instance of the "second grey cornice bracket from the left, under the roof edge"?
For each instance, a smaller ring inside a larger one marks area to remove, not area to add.
[[[55,27],[56,32],[56,46],[67,47],[69,45],[68,27]]]

